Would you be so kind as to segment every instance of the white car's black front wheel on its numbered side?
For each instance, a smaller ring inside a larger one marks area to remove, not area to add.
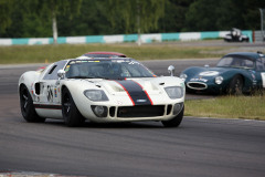
[[[65,125],[70,127],[81,126],[85,118],[77,110],[70,91],[65,87],[62,93],[62,113]]]

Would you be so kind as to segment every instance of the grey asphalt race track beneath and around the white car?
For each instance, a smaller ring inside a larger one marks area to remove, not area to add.
[[[197,63],[195,63],[197,62]],[[158,75],[170,64],[212,65],[216,60],[144,62]],[[0,173],[38,171],[88,177],[264,177],[265,122],[184,117],[161,123],[26,123],[19,108],[19,75],[41,65],[0,67]],[[208,96],[187,95],[187,98]]]

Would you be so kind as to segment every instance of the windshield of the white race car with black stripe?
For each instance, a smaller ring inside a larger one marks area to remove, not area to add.
[[[68,79],[123,80],[125,77],[156,76],[141,63],[131,59],[74,60],[66,65],[65,72]]]

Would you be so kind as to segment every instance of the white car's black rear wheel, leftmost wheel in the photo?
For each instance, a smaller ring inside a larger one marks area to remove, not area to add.
[[[34,108],[31,94],[25,85],[20,86],[20,110],[21,114],[26,122],[43,123],[45,118],[40,117]]]

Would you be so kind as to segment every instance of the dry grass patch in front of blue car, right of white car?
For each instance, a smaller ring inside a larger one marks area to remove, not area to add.
[[[265,121],[265,95],[186,101],[186,116]]]

